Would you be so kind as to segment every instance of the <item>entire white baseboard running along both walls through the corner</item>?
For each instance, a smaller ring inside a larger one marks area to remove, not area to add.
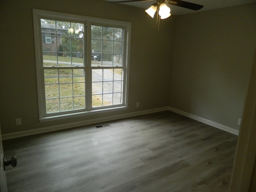
[[[239,134],[238,130],[235,130],[235,129],[227,127],[227,126],[224,126],[222,124],[212,122],[210,120],[204,119],[204,118],[196,116],[196,115],[189,114],[187,112],[178,110],[176,108],[162,107],[162,108],[156,108],[156,109],[150,109],[150,110],[127,113],[127,114],[120,114],[120,115],[102,117],[102,118],[97,118],[97,119],[92,119],[92,120],[72,122],[72,123],[68,123],[68,124],[60,124],[60,125],[56,125],[56,126],[49,126],[49,127],[32,129],[32,130],[27,130],[27,131],[20,131],[20,132],[2,134],[2,140],[8,140],[8,139],[13,139],[13,138],[29,136],[29,135],[35,135],[35,134],[46,133],[46,132],[51,132],[51,131],[63,130],[63,129],[68,129],[68,128],[90,125],[90,124],[98,124],[98,123],[101,123],[101,122],[108,122],[108,121],[112,121],[112,120],[123,119],[123,118],[128,118],[128,117],[133,117],[133,116],[144,115],[144,114],[150,114],[150,113],[155,113],[155,112],[160,112],[160,111],[165,111],[165,110],[170,110],[172,112],[178,113],[180,115],[186,116],[188,118],[197,120],[199,122],[208,124],[210,126],[213,126],[215,128],[219,128],[221,130],[224,130],[226,132],[230,132],[230,133],[235,134],[235,135]]]

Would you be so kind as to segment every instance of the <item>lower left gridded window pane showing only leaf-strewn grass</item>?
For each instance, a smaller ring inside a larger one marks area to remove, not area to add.
[[[44,69],[46,113],[85,109],[84,69]]]

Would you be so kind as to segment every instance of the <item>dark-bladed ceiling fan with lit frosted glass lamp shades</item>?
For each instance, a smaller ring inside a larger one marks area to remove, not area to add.
[[[148,2],[148,1],[154,1],[154,0],[130,0],[130,1],[114,1],[110,3],[126,3],[126,2]],[[168,4],[191,9],[191,10],[199,10],[203,7],[203,5],[194,4],[182,0],[157,0],[156,3],[152,4],[150,8],[148,8],[146,11],[147,14],[149,14],[152,18],[154,18],[154,15],[157,12],[157,16],[159,15],[161,19],[168,18],[170,14],[170,8],[165,4],[167,2]]]

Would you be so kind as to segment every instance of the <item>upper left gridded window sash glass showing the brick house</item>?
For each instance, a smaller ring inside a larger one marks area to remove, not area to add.
[[[84,66],[84,24],[42,18],[40,22],[42,39],[50,32],[53,40],[51,45],[42,42],[44,66]]]

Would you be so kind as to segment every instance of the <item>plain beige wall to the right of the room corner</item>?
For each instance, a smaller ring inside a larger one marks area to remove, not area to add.
[[[178,16],[170,106],[238,130],[255,45],[255,3]]]

